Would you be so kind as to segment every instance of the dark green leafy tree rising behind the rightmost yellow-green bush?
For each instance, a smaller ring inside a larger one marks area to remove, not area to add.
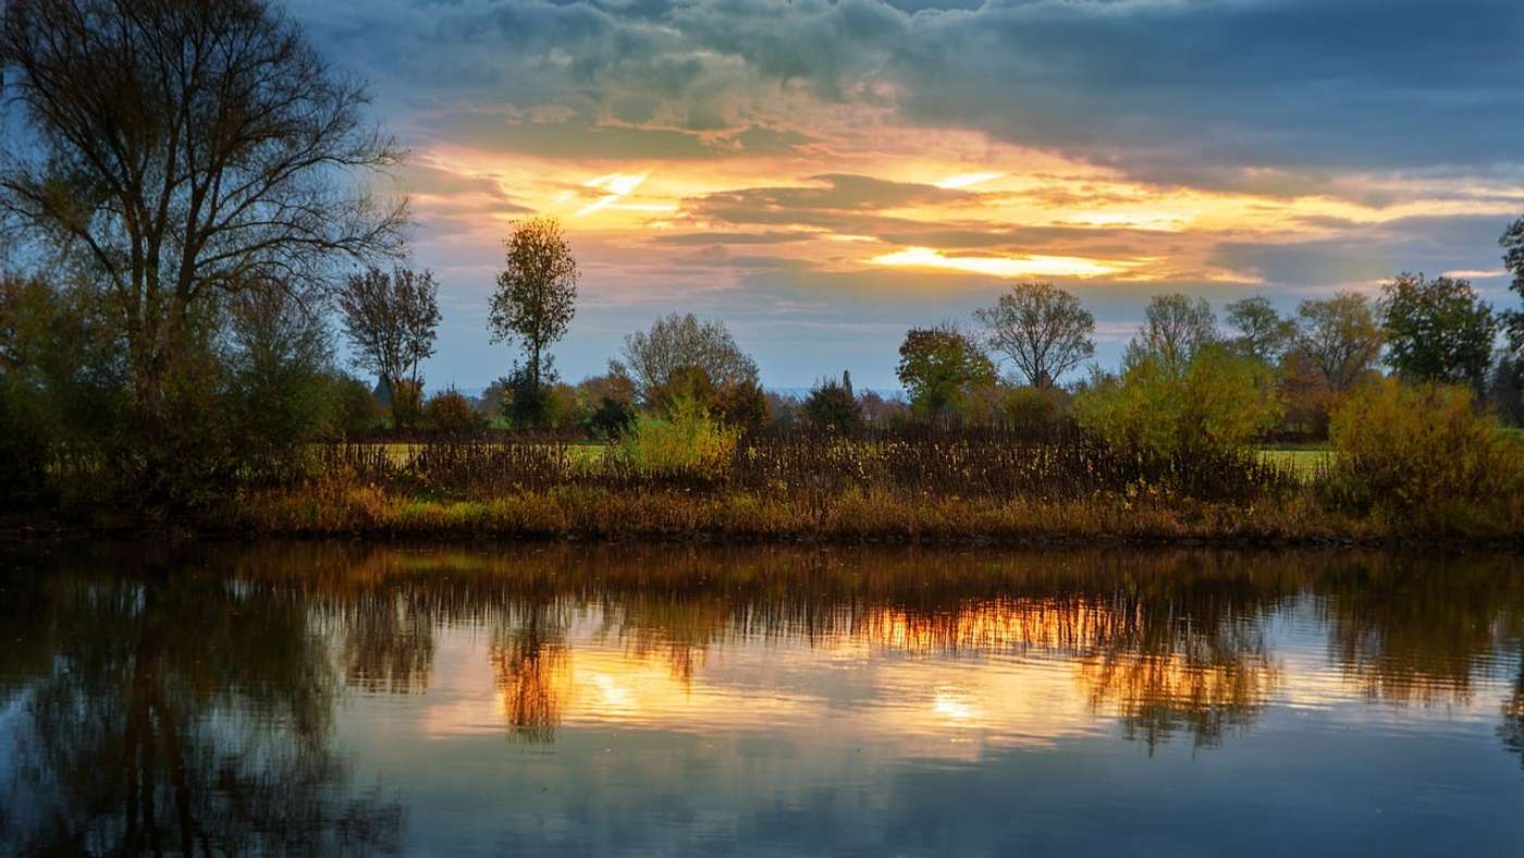
[[[1381,288],[1381,315],[1387,363],[1398,375],[1481,390],[1498,320],[1469,282],[1398,274]]]

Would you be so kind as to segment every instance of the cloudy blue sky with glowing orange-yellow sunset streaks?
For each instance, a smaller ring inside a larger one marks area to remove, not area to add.
[[[291,0],[411,152],[440,283],[428,387],[514,352],[488,297],[515,219],[582,280],[555,347],[602,372],[668,312],[722,319],[770,387],[895,389],[910,326],[1021,279],[1291,311],[1401,271],[1513,306],[1518,0]]]

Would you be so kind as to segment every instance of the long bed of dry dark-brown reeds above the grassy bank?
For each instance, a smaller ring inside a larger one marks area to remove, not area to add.
[[[823,501],[843,492],[913,498],[1074,500],[1140,492],[1251,503],[1298,485],[1294,468],[1253,451],[1189,456],[1117,450],[1079,430],[1032,437],[1003,428],[895,428],[853,434],[759,431],[721,462],[652,469],[610,448],[578,456],[564,442],[434,439],[407,457],[378,443],[319,445],[305,480],[349,480],[390,492],[488,500],[561,488],[681,491]]]

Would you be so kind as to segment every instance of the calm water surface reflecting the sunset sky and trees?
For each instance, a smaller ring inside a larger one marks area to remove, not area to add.
[[[1519,559],[0,562],[6,855],[1524,855]]]

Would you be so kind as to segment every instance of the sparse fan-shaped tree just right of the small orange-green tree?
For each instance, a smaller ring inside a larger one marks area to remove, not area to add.
[[[991,351],[1015,364],[1032,387],[1053,387],[1096,354],[1096,317],[1053,283],[1010,287],[994,306],[974,311]]]

